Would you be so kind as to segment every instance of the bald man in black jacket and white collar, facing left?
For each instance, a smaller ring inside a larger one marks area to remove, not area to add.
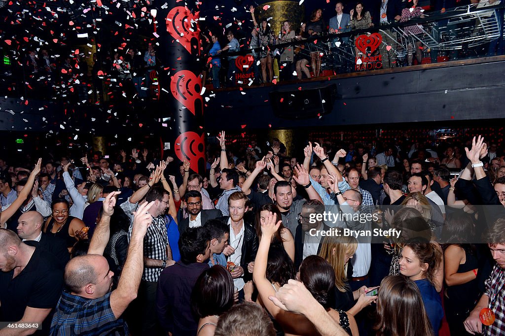
[[[59,261],[62,269],[70,260],[67,243],[63,238],[42,232],[44,218],[37,211],[23,213],[18,219],[18,236],[27,245],[40,247],[51,252]]]

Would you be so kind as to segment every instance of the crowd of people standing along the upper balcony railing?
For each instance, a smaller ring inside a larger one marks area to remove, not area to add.
[[[434,2],[430,8],[431,11],[427,11],[427,13],[436,15],[456,6],[473,5],[471,7],[475,10],[497,4],[499,3],[493,0],[482,0],[481,2],[472,0],[471,2],[447,3],[445,5]],[[348,10],[347,7],[351,9]],[[203,44],[207,45],[204,47],[204,53],[207,55],[203,62],[204,83],[208,74],[212,73],[214,88],[220,88],[224,83],[226,86],[248,84],[247,81],[237,80],[234,76],[237,72],[235,66],[237,55],[235,54],[226,58],[228,63],[226,75],[224,71],[220,74],[221,68],[224,67],[224,59],[219,58],[218,55],[225,50],[236,52],[241,49],[250,49],[249,54],[251,58],[254,58],[254,62],[246,70],[249,71],[252,68],[254,78],[251,80],[254,83],[275,83],[279,80],[302,79],[304,75],[306,78],[319,77],[322,74],[323,63],[325,63],[326,69],[331,69],[333,73],[348,73],[356,71],[356,62],[361,65],[363,62],[366,63],[370,56],[375,57],[379,54],[382,59],[381,69],[413,65],[414,55],[417,64],[421,64],[423,53],[430,55],[431,63],[438,62],[439,50],[437,48],[431,50],[427,44],[424,44],[422,38],[426,27],[423,28],[418,24],[407,26],[400,31],[384,27],[379,31],[383,43],[380,44],[377,51],[371,50],[370,54],[360,50],[355,44],[356,38],[363,34],[363,29],[425,18],[425,9],[418,6],[418,1],[412,3],[400,0],[359,1],[351,4],[338,1],[335,4],[335,13],[331,13],[326,19],[323,17],[323,10],[317,8],[302,22],[283,21],[279,32],[274,32],[271,28],[275,22],[271,20],[268,11],[263,13],[261,18],[257,18],[255,10],[254,6],[250,6],[249,12],[254,25],[250,36],[240,40],[246,40],[246,43],[239,43],[237,32],[232,29],[225,32],[228,40],[224,43],[220,42],[221,36],[216,36],[212,32],[204,33],[201,39]],[[350,37],[337,35],[355,30],[361,32],[352,34]],[[433,30],[433,33],[435,36],[436,30]],[[400,35],[402,36],[400,37]],[[310,40],[304,42],[309,38]],[[405,40],[405,45],[400,46],[400,38],[402,41]],[[434,38],[440,39],[439,36]],[[291,44],[286,45],[288,43]],[[501,45],[501,42],[498,41],[493,41],[489,45],[488,56],[495,54],[497,43]],[[397,60],[397,55],[402,48],[407,49],[407,58]],[[499,50],[498,54],[500,54]],[[450,57],[457,59],[458,53],[452,52]],[[274,66],[274,60],[277,60],[276,66]],[[275,75],[274,68],[278,71],[279,76]]]

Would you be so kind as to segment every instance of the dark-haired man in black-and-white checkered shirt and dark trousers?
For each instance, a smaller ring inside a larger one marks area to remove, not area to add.
[[[156,319],[158,279],[163,269],[174,264],[165,221],[169,192],[161,187],[153,186],[145,195],[145,200],[154,202],[154,205],[147,210],[153,220],[144,237],[144,271],[138,290],[138,303],[142,307],[141,334],[143,335],[160,332],[160,325]],[[129,235],[132,229],[133,221],[130,223]]]

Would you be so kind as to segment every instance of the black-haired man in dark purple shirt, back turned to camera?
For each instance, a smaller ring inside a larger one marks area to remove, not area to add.
[[[173,336],[195,335],[198,320],[191,313],[191,292],[205,269],[211,252],[205,228],[188,228],[179,239],[181,261],[167,267],[160,275],[156,312],[165,330]]]

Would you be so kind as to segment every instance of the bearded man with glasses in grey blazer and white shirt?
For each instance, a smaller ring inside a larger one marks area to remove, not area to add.
[[[189,217],[183,218],[178,225],[179,233],[182,234],[187,228],[198,228],[217,217],[221,217],[218,209],[202,210],[201,194],[199,191],[190,190],[184,195],[184,202]]]

